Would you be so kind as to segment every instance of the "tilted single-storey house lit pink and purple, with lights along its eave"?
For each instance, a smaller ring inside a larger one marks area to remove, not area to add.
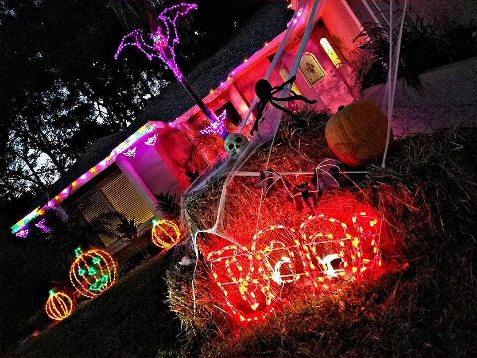
[[[227,109],[232,130],[247,112],[256,81],[263,78],[279,46],[297,1],[270,1],[243,23],[216,54],[186,75],[216,114]],[[307,9],[297,9],[307,11]],[[270,82],[282,83],[300,44],[307,13],[301,17]],[[355,98],[349,53],[360,23],[346,1],[324,1],[300,62],[293,90],[316,99],[317,109],[336,111]],[[204,115],[177,83],[171,83],[130,126],[98,139],[68,172],[36,200],[28,214],[11,227],[28,234],[28,222],[48,207],[90,222],[114,211],[149,225],[161,218],[155,194],[180,195],[187,172],[200,171],[223,146],[213,134],[202,135]],[[101,237],[111,253],[125,244]]]

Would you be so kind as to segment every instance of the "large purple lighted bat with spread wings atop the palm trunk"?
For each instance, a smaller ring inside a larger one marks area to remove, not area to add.
[[[119,53],[126,46],[135,46],[142,51],[149,60],[158,57],[172,70],[177,81],[182,82],[182,73],[175,63],[174,45],[179,43],[175,22],[179,15],[185,15],[190,9],[196,8],[196,4],[188,3],[167,7],[158,16],[163,26],[159,25],[156,31],[149,34],[149,36],[146,36],[141,29],[136,29],[127,34],[123,37],[114,58],[117,59]]]

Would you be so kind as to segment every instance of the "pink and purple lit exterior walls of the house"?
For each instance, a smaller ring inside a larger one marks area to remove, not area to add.
[[[296,33],[292,35],[290,43],[287,44],[273,71],[270,77],[272,86],[283,83],[283,78],[287,77],[301,41],[303,25],[297,27]],[[345,1],[325,2],[305,48],[305,52],[316,57],[325,76],[316,84],[309,85],[303,72],[299,71],[296,80],[296,88],[302,94],[318,101],[316,106],[313,106],[315,109],[330,109],[334,112],[339,105],[345,105],[354,99],[349,85],[350,69],[346,61],[353,46],[352,39],[360,31],[357,19]],[[232,103],[241,117],[246,114],[255,97],[255,83],[265,76],[270,66],[270,59],[277,50],[282,36],[283,33],[271,39],[269,46],[263,47],[253,55],[253,60],[250,58],[247,64],[250,66],[244,66],[243,70],[238,71],[225,86],[212,91],[213,96],[207,96],[204,99],[216,114],[218,114],[217,110],[227,102]],[[319,42],[321,37],[328,39],[339,58],[342,59],[343,64],[340,67],[336,67],[323,50]],[[284,75],[280,70],[286,71],[286,74]],[[302,102],[297,103],[304,105]],[[195,107],[191,108],[180,117],[180,120],[176,121],[177,123],[174,122],[173,126],[159,122],[148,123],[144,128],[149,128],[151,123],[159,124],[153,125],[157,125],[154,132],[146,131],[144,134],[140,131],[136,132],[139,135],[134,137],[134,143],[128,142],[126,149],[112,152],[112,159],[108,157],[109,161],[116,162],[121,172],[158,218],[162,215],[156,210],[157,200],[154,194],[161,191],[182,194],[189,185],[189,178],[185,172],[200,172],[223,148],[223,141],[217,136],[200,134],[200,130],[204,129],[208,122],[197,110]],[[255,114],[256,109],[252,112],[250,122]],[[174,119],[170,118],[170,120]],[[235,126],[231,126],[230,123],[228,125],[230,131],[235,130]],[[157,136],[155,145],[146,145],[144,142],[154,134]],[[136,148],[136,154],[127,157],[126,151],[133,148]]]

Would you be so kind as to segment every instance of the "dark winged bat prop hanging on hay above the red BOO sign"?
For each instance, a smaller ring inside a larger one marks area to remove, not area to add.
[[[311,183],[304,182],[297,186],[274,171],[264,171],[260,173],[258,186],[263,190],[265,198],[276,196],[294,203],[298,211],[306,208],[314,214],[319,197],[326,190],[339,186],[333,177],[333,173],[338,171],[338,164],[334,159],[323,160],[315,168]]]

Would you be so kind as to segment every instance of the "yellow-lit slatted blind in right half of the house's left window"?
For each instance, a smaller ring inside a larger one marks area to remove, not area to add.
[[[124,215],[128,220],[134,218],[136,224],[146,222],[154,216],[122,173],[104,184],[100,190],[114,210]]]

